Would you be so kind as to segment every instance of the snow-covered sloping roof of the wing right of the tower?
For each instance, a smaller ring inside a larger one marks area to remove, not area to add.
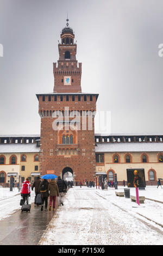
[[[161,142],[114,142],[98,143],[95,147],[96,152],[162,152],[163,143]]]

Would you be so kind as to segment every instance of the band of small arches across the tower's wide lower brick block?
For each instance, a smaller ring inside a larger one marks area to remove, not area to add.
[[[96,115],[96,111],[48,111],[48,110],[44,110],[44,111],[39,111],[40,117],[53,117],[53,118],[57,118],[57,117],[95,117]]]

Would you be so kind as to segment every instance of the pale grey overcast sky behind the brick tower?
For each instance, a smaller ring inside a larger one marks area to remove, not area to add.
[[[82,91],[99,93],[97,111],[111,113],[108,132],[163,134],[159,0],[0,0],[0,134],[40,133],[35,94],[53,92],[67,12]]]

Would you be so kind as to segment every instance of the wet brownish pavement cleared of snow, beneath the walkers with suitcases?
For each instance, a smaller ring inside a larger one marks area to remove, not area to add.
[[[18,210],[0,221],[0,245],[37,245],[54,215],[45,211],[45,206],[43,211],[40,209],[33,203],[30,212]]]

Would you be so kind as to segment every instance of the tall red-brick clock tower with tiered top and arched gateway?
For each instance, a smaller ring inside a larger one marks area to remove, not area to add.
[[[94,118],[98,94],[82,93],[82,63],[76,60],[73,29],[62,29],[59,60],[53,63],[53,93],[36,94],[41,117],[40,172],[74,181],[95,180]]]

